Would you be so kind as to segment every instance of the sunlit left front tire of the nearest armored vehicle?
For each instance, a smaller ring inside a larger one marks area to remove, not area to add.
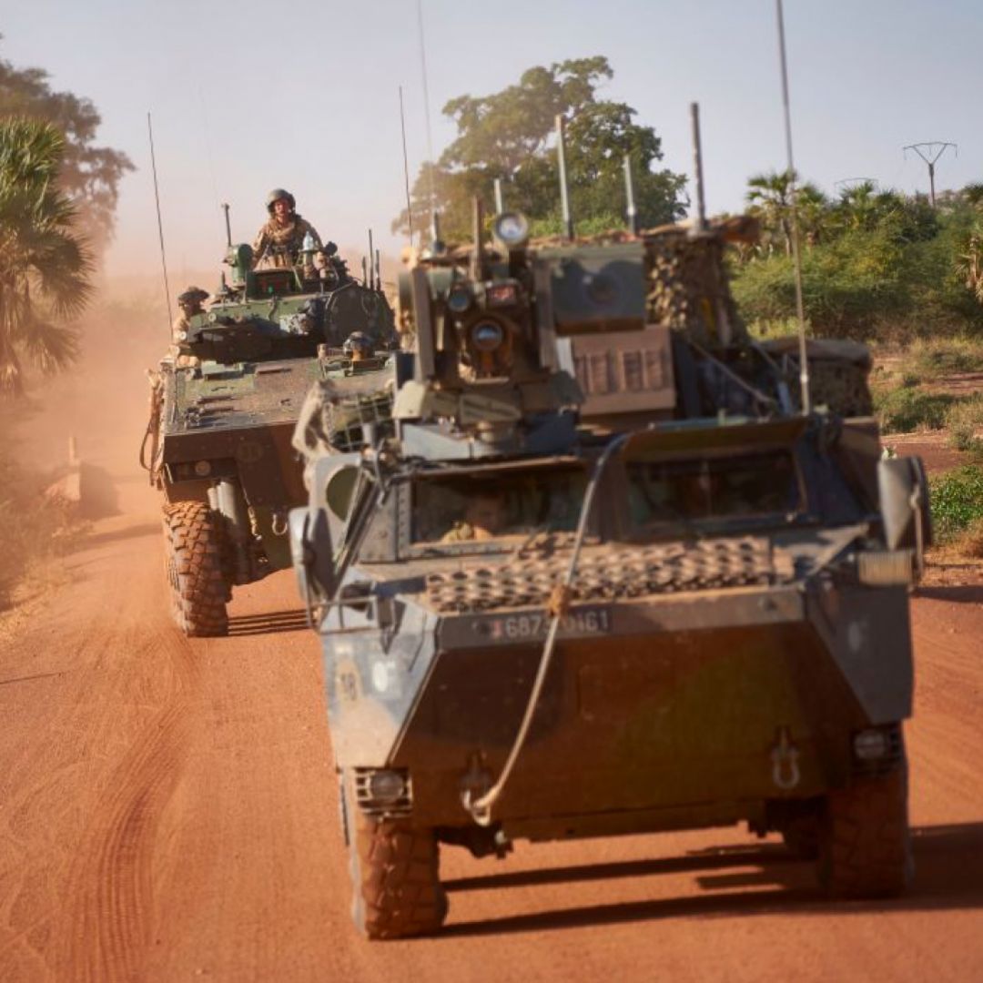
[[[436,932],[447,916],[447,896],[434,831],[353,811],[348,849],[358,930],[368,939]]]

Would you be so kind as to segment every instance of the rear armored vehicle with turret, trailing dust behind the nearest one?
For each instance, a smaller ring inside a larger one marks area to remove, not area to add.
[[[333,251],[302,259],[253,269],[251,248],[230,246],[231,283],[223,274],[152,379],[147,466],[188,635],[225,634],[232,588],[290,565],[287,511],[306,500],[290,438],[312,382],[375,368],[395,344],[375,267],[363,283]],[[353,361],[353,333],[378,357]]]

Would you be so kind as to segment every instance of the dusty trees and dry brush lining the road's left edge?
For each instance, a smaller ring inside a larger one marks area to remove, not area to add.
[[[48,85],[42,69],[0,59],[0,609],[71,535],[53,476],[25,464],[14,429],[31,376],[79,356],[78,318],[112,234],[119,179],[133,165],[94,144],[92,103]]]

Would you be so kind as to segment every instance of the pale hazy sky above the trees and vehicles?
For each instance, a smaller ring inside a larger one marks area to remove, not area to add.
[[[662,137],[665,166],[690,173],[688,106],[703,120],[709,209],[738,210],[747,177],[784,166],[774,0],[423,0],[434,150],[440,114],[523,70],[607,55],[603,95]],[[871,177],[927,190],[901,146],[952,141],[937,187],[983,181],[981,0],[785,0],[795,162],[827,192]],[[9,4],[0,57],[46,69],[90,98],[99,142],[137,165],[126,178],[110,273],[159,261],[146,138],[153,114],[172,282],[218,268],[219,202],[252,239],[283,186],[322,236],[383,248],[404,202],[398,87],[411,171],[427,155],[414,0],[278,5],[259,0],[40,0]]]

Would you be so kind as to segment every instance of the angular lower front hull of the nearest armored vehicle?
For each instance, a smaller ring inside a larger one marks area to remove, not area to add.
[[[353,774],[404,775],[411,794],[395,812],[414,824],[468,827],[462,793],[504,765],[547,617],[509,609],[431,625],[412,667],[374,632],[327,642],[335,752]],[[495,808],[509,838],[740,820],[764,829],[777,803],[901,764],[911,692],[902,589],[681,593],[574,606],[565,625]],[[875,661],[889,682],[876,689],[865,678]],[[858,759],[853,738],[871,729],[884,732],[884,753]],[[390,811],[365,792],[359,805]]]

